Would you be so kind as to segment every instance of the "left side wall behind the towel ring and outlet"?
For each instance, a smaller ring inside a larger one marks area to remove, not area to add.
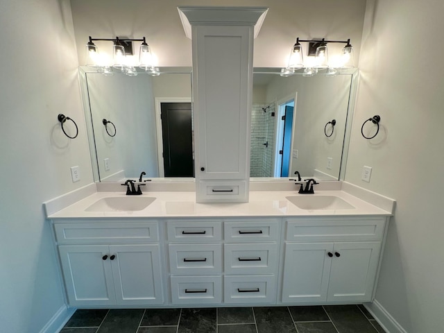
[[[65,309],[42,203],[91,183],[92,170],[69,1],[0,0],[0,31],[0,330],[35,333]]]

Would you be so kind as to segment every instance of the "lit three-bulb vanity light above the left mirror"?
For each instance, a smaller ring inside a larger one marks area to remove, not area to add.
[[[113,42],[112,46],[112,64],[105,63],[103,57],[99,53],[99,49],[94,41]],[[139,49],[139,62],[131,64],[127,55],[133,56],[133,42],[142,42]],[[117,69],[128,76],[136,76],[137,68],[144,69],[146,73],[152,76],[160,75],[159,68],[155,67],[154,57],[151,53],[150,46],[146,43],[146,38],[141,40],[119,38],[92,38],[89,36],[89,42],[86,44],[86,65],[94,67],[99,73],[112,75],[112,69]]]

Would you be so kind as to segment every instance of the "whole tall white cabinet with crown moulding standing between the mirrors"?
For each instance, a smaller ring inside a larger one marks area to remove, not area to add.
[[[253,38],[263,7],[180,7],[193,50],[196,202],[248,202]]]

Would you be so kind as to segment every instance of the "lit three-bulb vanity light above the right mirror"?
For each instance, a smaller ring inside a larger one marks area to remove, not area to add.
[[[308,43],[307,61],[302,55],[302,45],[300,42]],[[344,43],[339,61],[335,64],[329,62],[327,43]],[[314,57],[313,57],[314,56]],[[302,74],[303,76],[313,76],[321,73],[325,76],[336,76],[341,69],[355,67],[353,64],[353,46],[348,40],[300,40],[296,38],[296,44],[291,48],[289,62],[286,68],[281,70],[281,76]],[[298,71],[300,69],[300,71]],[[326,69],[326,71],[323,71]]]

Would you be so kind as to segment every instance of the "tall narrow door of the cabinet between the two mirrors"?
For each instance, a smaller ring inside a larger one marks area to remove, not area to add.
[[[253,26],[193,26],[192,42],[196,178],[246,179]]]

